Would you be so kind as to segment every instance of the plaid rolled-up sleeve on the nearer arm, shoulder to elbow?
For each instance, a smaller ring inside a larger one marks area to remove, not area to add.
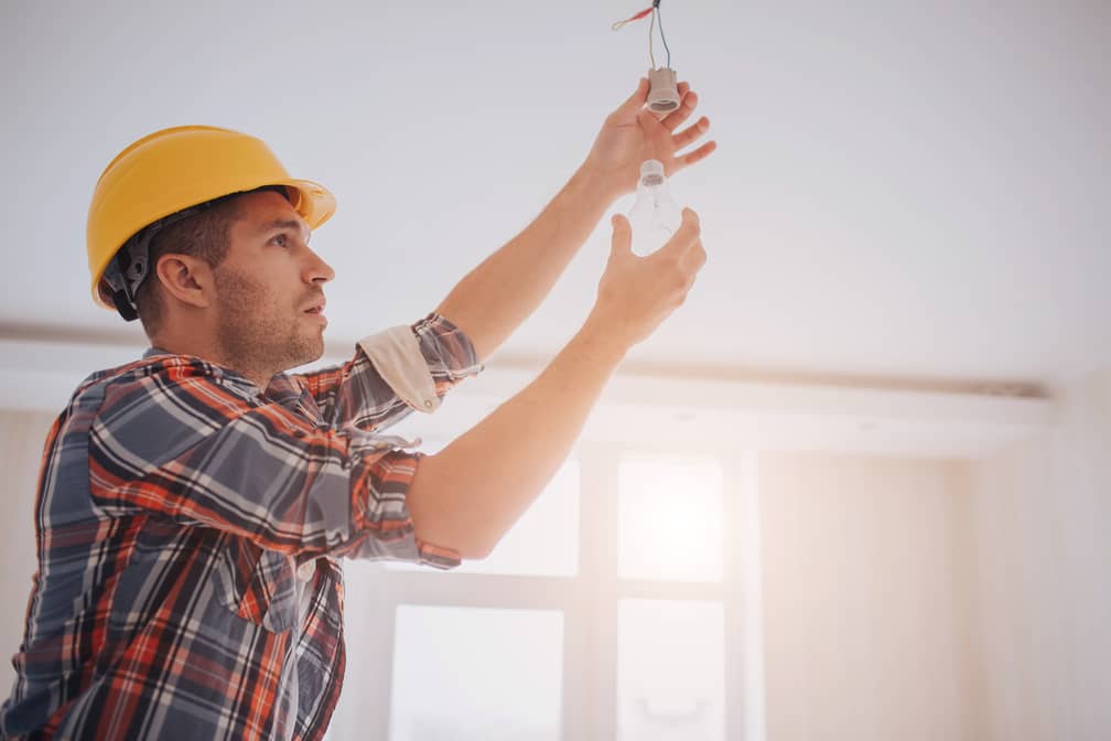
[[[93,502],[306,555],[459,563],[416,538],[406,497],[420,453],[318,425],[203,373],[114,384],[89,429]]]

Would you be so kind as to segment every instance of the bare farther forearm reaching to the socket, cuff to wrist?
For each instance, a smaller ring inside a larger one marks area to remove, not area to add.
[[[540,306],[612,200],[603,179],[580,167],[540,216],[468,273],[437,312],[487,359]]]

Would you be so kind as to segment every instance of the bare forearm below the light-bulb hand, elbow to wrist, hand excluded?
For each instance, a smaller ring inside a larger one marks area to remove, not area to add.
[[[422,458],[408,498],[418,538],[484,558],[567,458],[623,354],[588,322],[532,383]]]

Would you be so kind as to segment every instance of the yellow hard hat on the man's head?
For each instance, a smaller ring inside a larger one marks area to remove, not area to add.
[[[336,212],[323,186],[289,177],[261,140],[229,129],[183,126],[143,137],[112,160],[89,206],[87,242],[92,300],[116,309],[101,279],[132,236],[163,217],[231,193],[284,187],[301,218],[316,229]]]

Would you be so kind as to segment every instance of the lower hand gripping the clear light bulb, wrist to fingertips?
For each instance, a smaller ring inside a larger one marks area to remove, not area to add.
[[[632,251],[629,220],[618,214],[612,223],[610,259],[587,326],[628,350],[687,300],[705,264],[705,250],[698,214],[691,209],[683,209],[682,226],[671,240],[643,258]]]

